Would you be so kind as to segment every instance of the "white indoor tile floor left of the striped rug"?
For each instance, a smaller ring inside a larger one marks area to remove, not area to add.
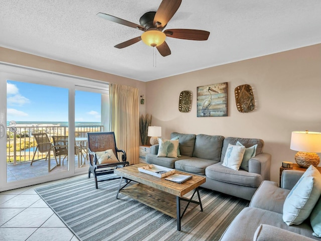
[[[79,240],[34,189],[85,175],[0,192],[0,240]]]

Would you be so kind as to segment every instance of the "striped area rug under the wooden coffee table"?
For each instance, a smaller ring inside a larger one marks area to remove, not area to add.
[[[123,194],[116,199],[120,179],[100,182],[81,177],[36,189],[42,199],[80,239],[98,240],[219,240],[234,217],[249,202],[201,188],[203,212],[197,206],[176,219]]]

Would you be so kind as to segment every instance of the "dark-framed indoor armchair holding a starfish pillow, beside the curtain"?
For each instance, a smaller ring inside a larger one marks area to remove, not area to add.
[[[119,167],[129,165],[126,161],[126,153],[116,147],[115,134],[113,132],[92,132],[87,133],[88,153],[89,153],[89,170],[94,175],[96,189],[98,182],[118,179],[120,177],[109,177],[106,179],[97,179],[97,176],[113,174],[114,170]],[[121,161],[117,153],[122,153]]]

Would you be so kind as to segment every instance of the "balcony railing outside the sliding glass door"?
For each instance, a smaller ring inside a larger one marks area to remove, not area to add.
[[[52,136],[68,136],[68,127],[57,125],[17,125],[15,132],[12,127],[7,127],[7,163],[17,164],[46,158],[46,153],[36,150],[37,142],[34,133],[46,133],[52,141]],[[103,126],[76,126],[75,137],[87,137],[87,132],[102,132]]]

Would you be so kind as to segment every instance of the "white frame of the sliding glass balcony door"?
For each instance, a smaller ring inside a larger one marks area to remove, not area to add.
[[[108,83],[76,76],[67,76],[59,73],[51,73],[42,70],[11,66],[0,63],[0,125],[5,125],[7,130],[7,80],[50,85],[69,89],[69,145],[75,145],[75,89],[76,86],[94,87],[106,89]],[[6,131],[7,133],[7,131]],[[0,134],[1,135],[1,134]],[[74,160],[74,148],[69,148],[69,157]],[[7,135],[0,137],[0,191],[20,188],[38,183],[58,180],[88,172],[88,168],[75,169],[74,161],[70,161],[68,171],[61,173],[49,173],[49,175],[24,179],[22,181],[7,182]]]

